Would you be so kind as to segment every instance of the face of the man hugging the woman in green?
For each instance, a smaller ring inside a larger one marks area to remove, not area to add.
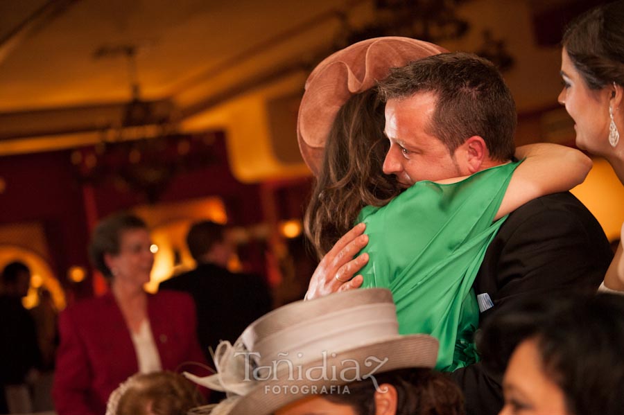
[[[397,176],[406,188],[421,180],[451,179],[466,174],[462,174],[455,154],[426,132],[435,105],[435,95],[429,92],[390,99],[385,104],[384,132],[390,140],[390,150],[383,161],[383,173]]]

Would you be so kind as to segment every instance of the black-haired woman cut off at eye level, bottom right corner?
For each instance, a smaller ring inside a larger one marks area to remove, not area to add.
[[[481,350],[510,356],[499,415],[620,415],[624,297],[522,301],[483,330]]]

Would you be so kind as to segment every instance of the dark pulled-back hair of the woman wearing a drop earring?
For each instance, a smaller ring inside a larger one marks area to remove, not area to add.
[[[562,45],[590,89],[624,85],[624,1],[598,6],[566,28]]]

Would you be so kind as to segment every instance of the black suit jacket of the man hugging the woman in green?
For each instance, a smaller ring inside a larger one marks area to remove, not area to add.
[[[476,276],[476,294],[494,306],[483,326],[514,299],[548,299],[564,290],[595,292],[613,258],[596,218],[571,193],[532,200],[509,215],[489,245]],[[503,406],[503,373],[487,361],[451,373],[464,391],[467,415],[497,414]]]

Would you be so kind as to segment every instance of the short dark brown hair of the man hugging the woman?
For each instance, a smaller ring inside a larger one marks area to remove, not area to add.
[[[441,53],[391,69],[379,82],[385,101],[427,92],[436,98],[427,133],[451,154],[471,136],[480,136],[491,159],[512,158],[516,105],[492,62],[471,53]]]

